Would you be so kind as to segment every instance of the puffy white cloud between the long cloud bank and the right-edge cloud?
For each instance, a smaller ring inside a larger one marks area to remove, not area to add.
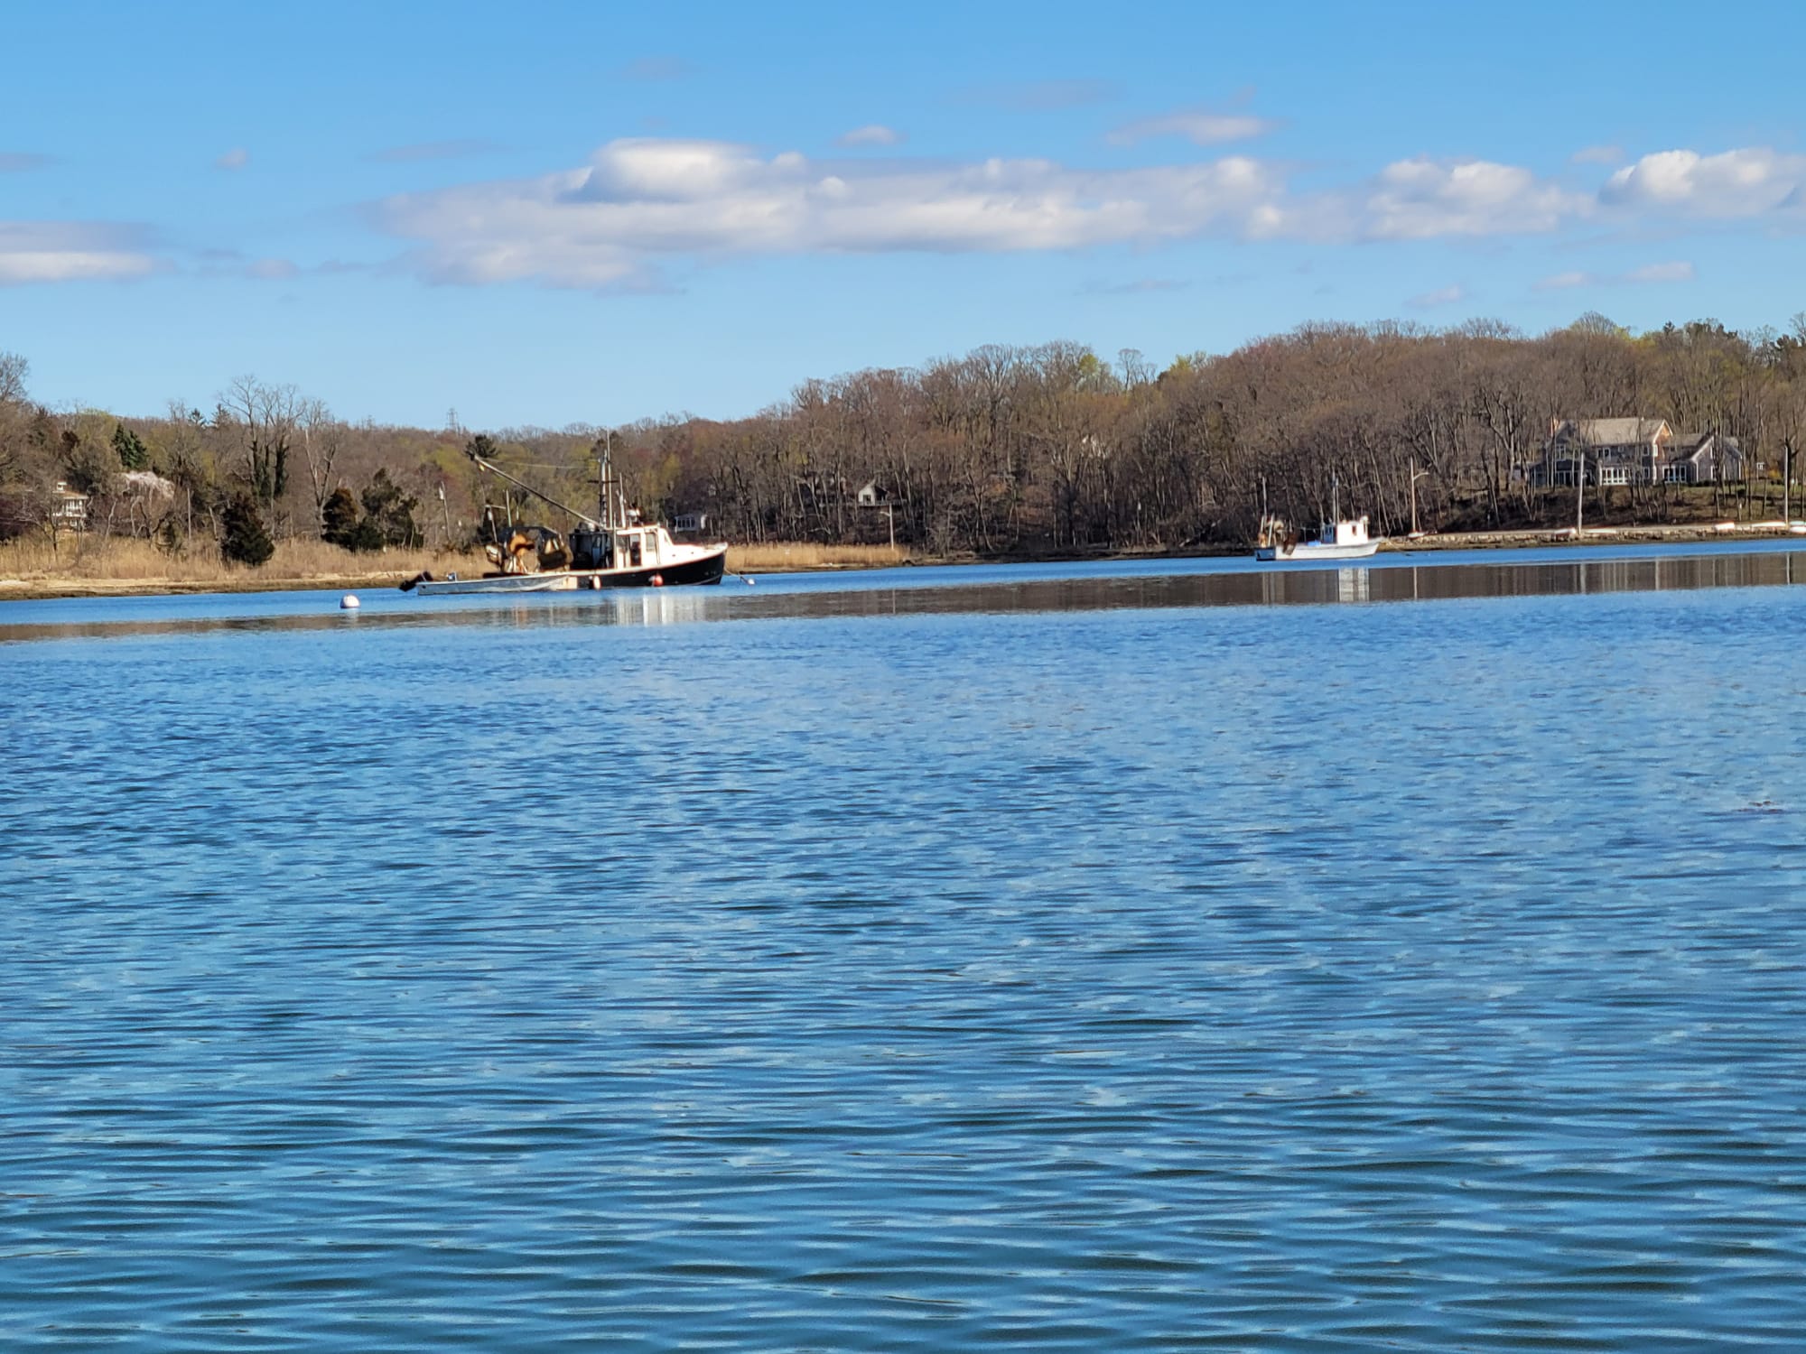
[[[1515,164],[1418,157],[1387,164],[1360,206],[1371,238],[1430,240],[1553,231],[1591,202]]]

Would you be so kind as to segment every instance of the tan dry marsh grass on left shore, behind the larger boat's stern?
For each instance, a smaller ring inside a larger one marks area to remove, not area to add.
[[[383,551],[352,554],[320,540],[285,540],[256,569],[220,560],[213,545],[190,545],[168,554],[146,540],[121,536],[63,536],[56,547],[43,536],[0,543],[0,580],[25,585],[144,585],[262,589],[284,583],[406,578],[432,569],[482,567],[482,556],[444,551]]]

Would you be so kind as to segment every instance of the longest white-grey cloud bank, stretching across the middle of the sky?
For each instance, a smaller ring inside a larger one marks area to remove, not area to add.
[[[769,159],[721,141],[610,141],[587,168],[392,197],[439,282],[643,283],[659,258],[1001,253],[1270,233],[1284,182],[1248,159],[1147,170],[1051,161]]]

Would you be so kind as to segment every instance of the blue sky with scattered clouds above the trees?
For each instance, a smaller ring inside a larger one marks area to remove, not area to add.
[[[1806,309],[1806,7],[20,5],[0,350],[471,428],[1306,320]]]

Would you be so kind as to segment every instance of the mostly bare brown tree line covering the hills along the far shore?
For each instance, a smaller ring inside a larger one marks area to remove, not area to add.
[[[1806,314],[1737,332],[1712,320],[1627,332],[1602,316],[1541,336],[1495,321],[1304,325],[1165,370],[1076,343],[982,347],[908,370],[811,379],[751,417],[471,435],[350,422],[293,385],[238,377],[211,410],[52,412],[0,354],[0,536],[43,529],[56,482],[88,529],[255,563],[282,538],[347,549],[462,547],[486,507],[556,518],[466,455],[558,502],[594,502],[609,450],[650,516],[708,516],[730,540],[885,540],[932,554],[1188,551],[1252,538],[1262,511],[1311,524],[1338,495],[1398,534],[1571,516],[1533,486],[1555,419],[1651,417],[1739,439],[1757,480],[1806,437]],[[480,441],[479,441],[480,439]],[[1716,486],[1748,500],[1754,486]],[[1636,520],[1701,511],[1698,491],[1595,486]],[[553,522],[553,525],[560,525]]]

